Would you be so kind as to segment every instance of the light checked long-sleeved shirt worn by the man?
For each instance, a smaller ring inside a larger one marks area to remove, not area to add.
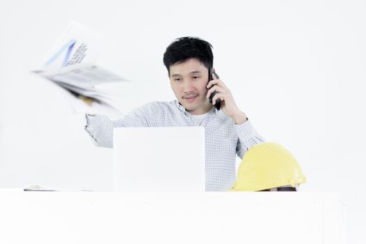
[[[235,156],[264,142],[249,121],[236,125],[222,110],[212,109],[200,125],[177,100],[150,102],[122,119],[86,115],[85,130],[96,146],[113,146],[117,127],[203,126],[205,128],[205,174],[207,191],[225,191],[235,182]]]

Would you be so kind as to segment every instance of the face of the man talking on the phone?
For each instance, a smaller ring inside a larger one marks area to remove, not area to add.
[[[169,79],[175,97],[189,113],[205,114],[212,109],[206,98],[208,70],[198,59],[170,66]]]

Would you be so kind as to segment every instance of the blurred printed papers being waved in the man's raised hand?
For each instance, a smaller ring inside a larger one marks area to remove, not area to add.
[[[45,64],[33,72],[70,91],[75,97],[82,98],[79,101],[86,102],[89,112],[98,107],[98,113],[120,114],[112,95],[98,89],[101,84],[126,81],[97,64],[103,43],[104,38],[96,31],[78,22],[71,22],[50,49]],[[80,109],[83,106],[77,107]]]

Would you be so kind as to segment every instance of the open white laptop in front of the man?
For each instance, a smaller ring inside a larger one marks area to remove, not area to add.
[[[114,189],[204,192],[203,127],[115,128]]]

